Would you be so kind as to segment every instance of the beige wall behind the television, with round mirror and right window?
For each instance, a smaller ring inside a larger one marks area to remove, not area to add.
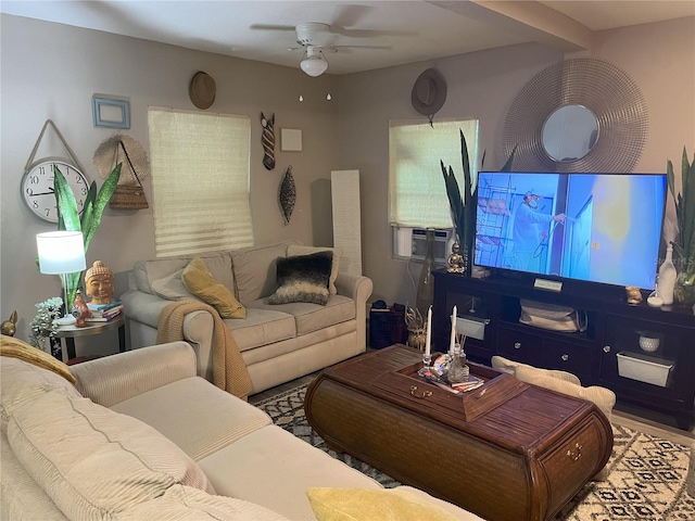
[[[692,157],[695,149],[694,23],[695,18],[691,17],[602,31],[595,35],[589,52],[571,56],[607,60],[631,76],[643,91],[649,112],[649,131],[634,171],[666,171],[667,158],[673,160],[680,171],[683,145]],[[389,119],[422,118],[410,105],[410,89],[417,76],[428,67],[443,74],[447,97],[437,117],[480,118],[480,147],[488,151],[485,167],[497,168],[504,162],[498,144],[511,102],[533,75],[561,59],[557,51],[525,45],[340,79],[340,163],[342,168],[359,168],[362,173],[364,269],[374,279],[372,300],[415,303],[420,265],[391,258],[388,125]]]

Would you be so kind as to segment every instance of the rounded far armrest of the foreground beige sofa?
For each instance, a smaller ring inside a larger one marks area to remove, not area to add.
[[[104,407],[167,383],[197,376],[193,348],[170,342],[71,366],[83,396]]]

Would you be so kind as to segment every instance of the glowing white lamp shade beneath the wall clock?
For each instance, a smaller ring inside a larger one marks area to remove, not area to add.
[[[49,231],[36,236],[39,270],[47,275],[81,271],[87,267],[81,231]]]

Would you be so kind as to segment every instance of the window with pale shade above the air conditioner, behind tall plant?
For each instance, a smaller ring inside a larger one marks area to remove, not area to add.
[[[448,198],[440,161],[464,186],[460,134],[468,145],[471,174],[478,174],[478,119],[389,124],[389,223],[394,254],[412,256],[413,228],[452,228]]]

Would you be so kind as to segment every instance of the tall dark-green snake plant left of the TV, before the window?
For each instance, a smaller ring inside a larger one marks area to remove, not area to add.
[[[476,212],[478,208],[478,183],[476,188],[472,188],[472,173],[470,170],[470,158],[468,156],[468,145],[466,143],[466,137],[463,130],[458,130],[460,134],[460,160],[464,170],[464,195],[458,188],[458,181],[454,175],[454,170],[448,166],[448,170],[444,166],[444,162],[440,160],[442,168],[442,175],[444,176],[444,183],[446,186],[446,195],[448,196],[448,203],[452,212],[452,223],[454,225],[454,232],[458,238],[458,243],[462,246],[462,252],[468,255],[470,258],[473,251],[473,241],[476,240]],[[509,158],[506,161],[500,171],[510,171],[511,162],[517,148],[515,147],[509,154]],[[482,155],[482,164],[485,161],[485,154]],[[468,274],[472,269],[472,263],[467,263]]]

